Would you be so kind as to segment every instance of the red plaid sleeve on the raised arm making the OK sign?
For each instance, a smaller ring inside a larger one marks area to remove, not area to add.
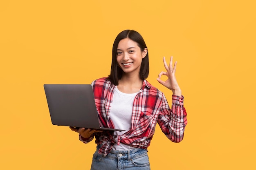
[[[173,142],[180,142],[184,137],[187,119],[183,101],[183,96],[172,95],[172,107],[170,108],[164,94],[162,94],[162,106],[157,122],[162,132]]]

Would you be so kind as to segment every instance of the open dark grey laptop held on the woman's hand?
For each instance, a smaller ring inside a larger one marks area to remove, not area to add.
[[[44,84],[52,124],[101,130],[91,84]]]

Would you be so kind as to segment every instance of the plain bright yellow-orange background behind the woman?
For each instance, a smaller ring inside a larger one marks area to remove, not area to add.
[[[148,46],[148,81],[177,60],[188,125],[169,141],[157,126],[152,170],[256,169],[254,0],[1,0],[0,169],[90,168],[96,144],[53,126],[43,84],[88,84],[110,73],[124,29]]]

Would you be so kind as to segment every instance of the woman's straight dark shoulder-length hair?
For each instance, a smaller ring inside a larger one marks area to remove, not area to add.
[[[112,82],[112,84],[118,85],[118,80],[121,79],[123,70],[117,66],[117,46],[119,42],[125,38],[129,38],[130,40],[137,42],[137,45],[141,49],[141,52],[144,51],[145,48],[147,48],[146,43],[142,36],[134,30],[124,30],[121,33],[117,35],[117,38],[114,41],[113,49],[112,49],[112,64],[111,64],[111,71],[108,78]],[[149,62],[148,62],[148,53],[146,54],[146,57],[142,59],[140,71],[139,71],[139,77],[141,79],[146,79],[148,77],[149,73]]]

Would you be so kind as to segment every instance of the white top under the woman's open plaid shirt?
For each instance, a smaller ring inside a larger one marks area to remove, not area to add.
[[[110,109],[110,117],[116,129],[124,129],[126,130],[125,132],[131,129],[132,106],[137,93],[123,93],[119,91],[118,88],[115,88]],[[115,131],[115,135],[122,135],[125,132]],[[114,144],[112,149],[130,150],[134,149],[134,147],[120,143],[120,145]]]

